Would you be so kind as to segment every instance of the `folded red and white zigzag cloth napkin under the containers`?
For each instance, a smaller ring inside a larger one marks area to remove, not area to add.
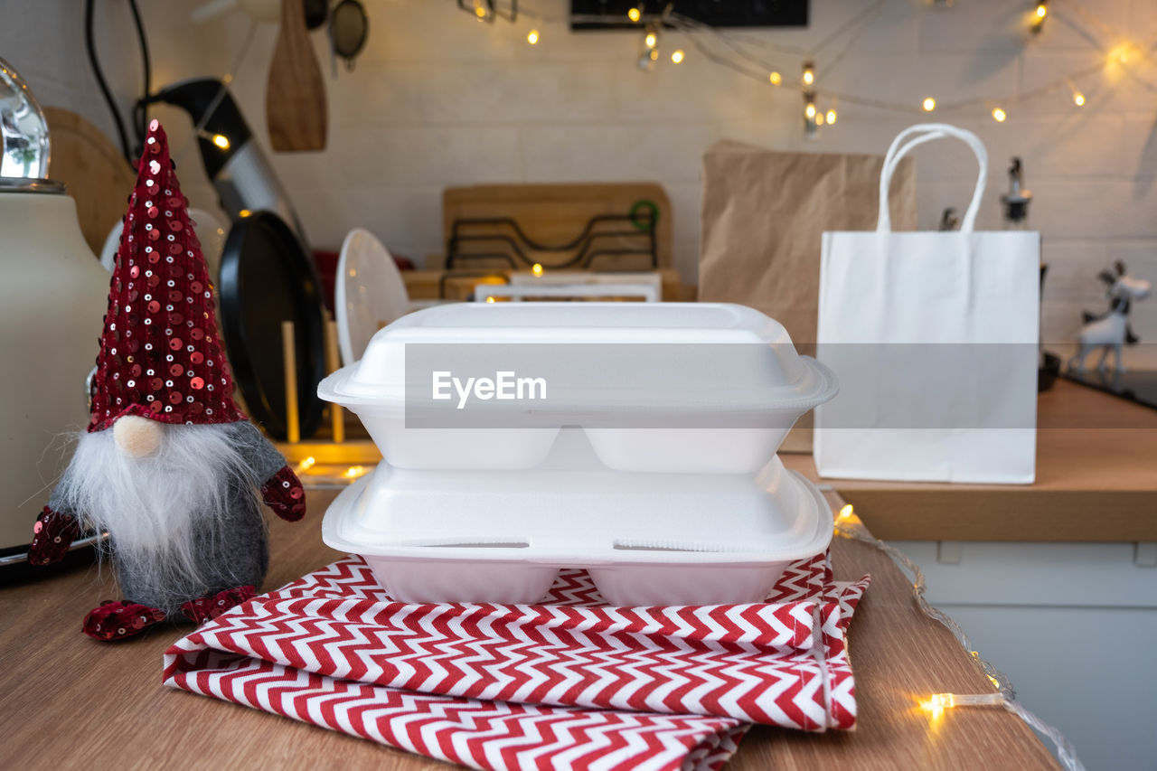
[[[477,769],[718,769],[751,724],[855,726],[827,555],[764,603],[614,608],[584,571],[540,604],[397,602],[358,557],[200,626],[164,683]]]

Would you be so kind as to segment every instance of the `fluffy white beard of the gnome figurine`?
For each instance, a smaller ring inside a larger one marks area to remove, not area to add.
[[[258,483],[230,425],[159,425],[160,446],[145,457],[123,451],[111,428],[80,434],[57,494],[66,511],[109,531],[119,567],[143,586],[204,583],[194,524],[228,538],[230,490],[256,492]]]

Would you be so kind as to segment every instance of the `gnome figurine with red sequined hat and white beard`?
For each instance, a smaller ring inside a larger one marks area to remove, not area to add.
[[[34,528],[61,559],[81,523],[108,530],[124,600],[83,631],[119,640],[201,623],[252,597],[268,566],[260,504],[305,514],[301,482],[233,402],[213,294],[164,130],[149,125],[109,292],[91,419]]]

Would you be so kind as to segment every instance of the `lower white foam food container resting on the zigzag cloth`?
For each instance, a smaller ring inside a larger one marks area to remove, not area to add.
[[[333,501],[323,539],[404,602],[532,603],[559,568],[582,567],[610,603],[638,607],[759,602],[832,538],[819,491],[778,457],[757,475],[550,465],[382,464]]]

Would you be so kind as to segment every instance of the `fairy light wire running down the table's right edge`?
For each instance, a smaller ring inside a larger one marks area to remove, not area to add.
[[[831,485],[820,485],[820,489],[828,492],[834,492]],[[980,671],[990,680],[997,688],[1000,696],[1002,697],[1001,706],[1017,715],[1027,724],[1030,727],[1040,732],[1047,736],[1053,744],[1056,747],[1056,756],[1068,771],[1085,771],[1084,765],[1077,758],[1076,749],[1069,743],[1069,740],[1064,737],[1057,728],[1048,725],[1036,714],[1030,712],[1023,704],[1020,704],[1016,698],[1016,690],[1012,688],[1012,682],[1009,680],[1008,675],[998,670],[992,663],[986,661],[977,652],[972,644],[972,640],[965,633],[964,629],[960,627],[951,616],[943,612],[938,608],[931,605],[928,600],[924,599],[926,579],[923,571],[916,565],[912,559],[908,558],[902,551],[896,546],[885,543],[871,535],[868,529],[860,521],[860,517],[855,515],[854,509],[850,505],[845,506],[835,519],[835,531],[843,536],[845,538],[852,538],[854,541],[860,541],[875,546],[879,551],[887,555],[897,567],[907,571],[912,574],[912,593],[915,597],[916,605],[920,610],[929,618],[939,622],[952,633],[960,647],[968,653],[968,656],[977,664]],[[989,699],[985,697],[990,697],[994,695],[972,695],[959,696],[957,704],[968,704],[970,702],[974,704],[988,704]],[[979,697],[979,698],[978,698]]]

